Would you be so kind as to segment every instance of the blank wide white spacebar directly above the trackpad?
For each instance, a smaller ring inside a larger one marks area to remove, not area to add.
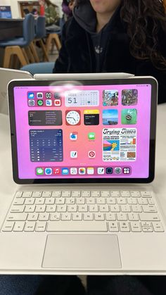
[[[107,232],[107,225],[102,221],[52,221],[47,232]]]

